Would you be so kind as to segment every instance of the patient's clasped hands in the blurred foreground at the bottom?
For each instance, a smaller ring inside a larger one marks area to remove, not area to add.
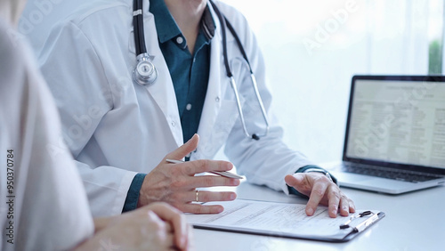
[[[76,250],[190,250],[191,228],[184,215],[154,203],[123,215],[94,219],[94,235]]]

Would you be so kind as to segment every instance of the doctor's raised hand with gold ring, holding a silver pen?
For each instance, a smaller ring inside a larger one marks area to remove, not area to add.
[[[189,142],[167,154],[166,158],[145,176],[139,195],[138,207],[155,201],[164,201],[184,213],[218,214],[223,206],[203,206],[191,202],[227,201],[237,197],[231,191],[207,191],[197,188],[214,186],[238,186],[238,179],[215,175],[196,176],[210,171],[230,171],[233,165],[227,161],[194,160],[181,164],[167,163],[166,159],[182,159],[198,147],[199,136],[193,135]]]

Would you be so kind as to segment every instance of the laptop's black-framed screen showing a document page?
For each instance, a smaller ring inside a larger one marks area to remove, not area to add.
[[[345,160],[445,169],[445,77],[355,76]]]

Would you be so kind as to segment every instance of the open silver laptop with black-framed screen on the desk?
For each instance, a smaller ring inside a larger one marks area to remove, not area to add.
[[[445,76],[354,76],[343,187],[401,194],[445,183]]]

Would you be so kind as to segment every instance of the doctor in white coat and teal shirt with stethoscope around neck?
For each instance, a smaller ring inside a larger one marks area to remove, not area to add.
[[[310,197],[307,215],[320,203],[332,217],[354,211],[323,169],[281,141],[262,53],[247,20],[227,4],[93,1],[54,26],[38,56],[93,215],[154,201],[195,214],[222,212],[191,202],[232,200],[235,193],[196,189],[239,180],[194,174],[229,171],[231,163],[248,182]],[[211,160],[223,146],[231,162]]]

